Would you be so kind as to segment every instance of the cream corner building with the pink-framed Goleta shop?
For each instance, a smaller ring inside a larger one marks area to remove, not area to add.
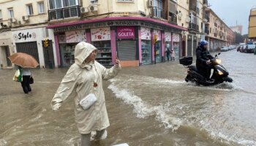
[[[105,66],[116,55],[123,66],[165,61],[165,50],[171,48],[181,55],[181,31],[187,28],[177,25],[177,1],[71,1],[64,7],[64,0],[49,0],[48,28],[55,34],[59,66],[74,63],[74,48],[81,40],[98,48],[97,61]]]

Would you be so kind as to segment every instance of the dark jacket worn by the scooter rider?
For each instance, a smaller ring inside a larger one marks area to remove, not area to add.
[[[208,50],[204,50],[202,47],[197,47],[197,66],[205,65],[206,61],[214,58]]]

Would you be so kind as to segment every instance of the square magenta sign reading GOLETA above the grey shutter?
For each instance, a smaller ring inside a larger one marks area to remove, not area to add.
[[[135,39],[135,27],[133,26],[120,26],[117,27],[118,39]]]

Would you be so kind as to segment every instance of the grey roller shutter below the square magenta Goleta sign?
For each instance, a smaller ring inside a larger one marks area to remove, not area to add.
[[[118,42],[118,57],[121,61],[135,61],[136,60],[136,42],[135,41],[121,41]]]

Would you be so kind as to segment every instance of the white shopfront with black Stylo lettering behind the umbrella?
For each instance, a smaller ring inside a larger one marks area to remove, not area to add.
[[[41,28],[28,28],[12,31],[15,52],[32,55],[39,67],[56,66],[56,52],[53,47],[53,31]],[[48,39],[48,47],[43,47],[43,41]],[[50,65],[49,65],[50,63]]]

